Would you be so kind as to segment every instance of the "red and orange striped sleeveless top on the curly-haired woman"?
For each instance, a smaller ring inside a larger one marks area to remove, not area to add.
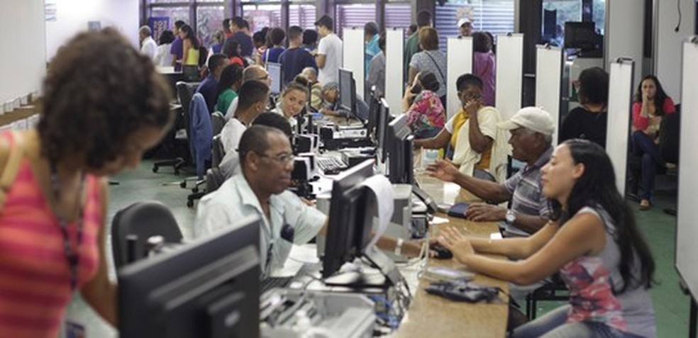
[[[87,175],[86,180],[78,288],[96,274],[103,213],[99,179]],[[77,221],[68,225],[68,234],[74,248]],[[0,210],[2,337],[57,337],[72,297],[63,244],[60,223],[25,157]]]

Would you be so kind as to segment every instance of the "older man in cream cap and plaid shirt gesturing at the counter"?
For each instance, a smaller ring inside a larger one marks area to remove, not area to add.
[[[427,170],[431,176],[455,182],[484,201],[495,204],[470,205],[465,213],[467,219],[502,222],[504,237],[528,236],[543,227],[550,214],[548,201],[541,193],[541,167],[548,163],[553,153],[551,142],[555,123],[543,109],[526,107],[497,127],[511,132],[511,156],[526,162],[526,167],[503,184],[462,174],[453,164],[440,159],[430,164]],[[511,201],[511,209],[496,205],[506,201]]]

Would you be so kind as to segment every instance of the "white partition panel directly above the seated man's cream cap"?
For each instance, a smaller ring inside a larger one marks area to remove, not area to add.
[[[497,35],[497,95],[494,106],[504,120],[521,108],[524,85],[524,35]]]

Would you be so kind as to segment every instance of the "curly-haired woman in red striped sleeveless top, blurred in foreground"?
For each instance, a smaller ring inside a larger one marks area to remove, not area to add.
[[[165,79],[111,28],[62,47],[43,92],[38,128],[0,134],[3,181],[10,176],[0,207],[0,332],[9,337],[56,337],[76,291],[116,325],[106,176],[138,166],[173,120]]]

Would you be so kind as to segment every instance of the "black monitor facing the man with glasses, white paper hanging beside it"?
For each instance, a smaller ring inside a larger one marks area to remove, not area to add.
[[[373,160],[367,159],[333,181],[323,278],[332,276],[345,262],[360,255],[370,241],[376,203],[370,201],[370,193],[361,184],[371,176]]]

